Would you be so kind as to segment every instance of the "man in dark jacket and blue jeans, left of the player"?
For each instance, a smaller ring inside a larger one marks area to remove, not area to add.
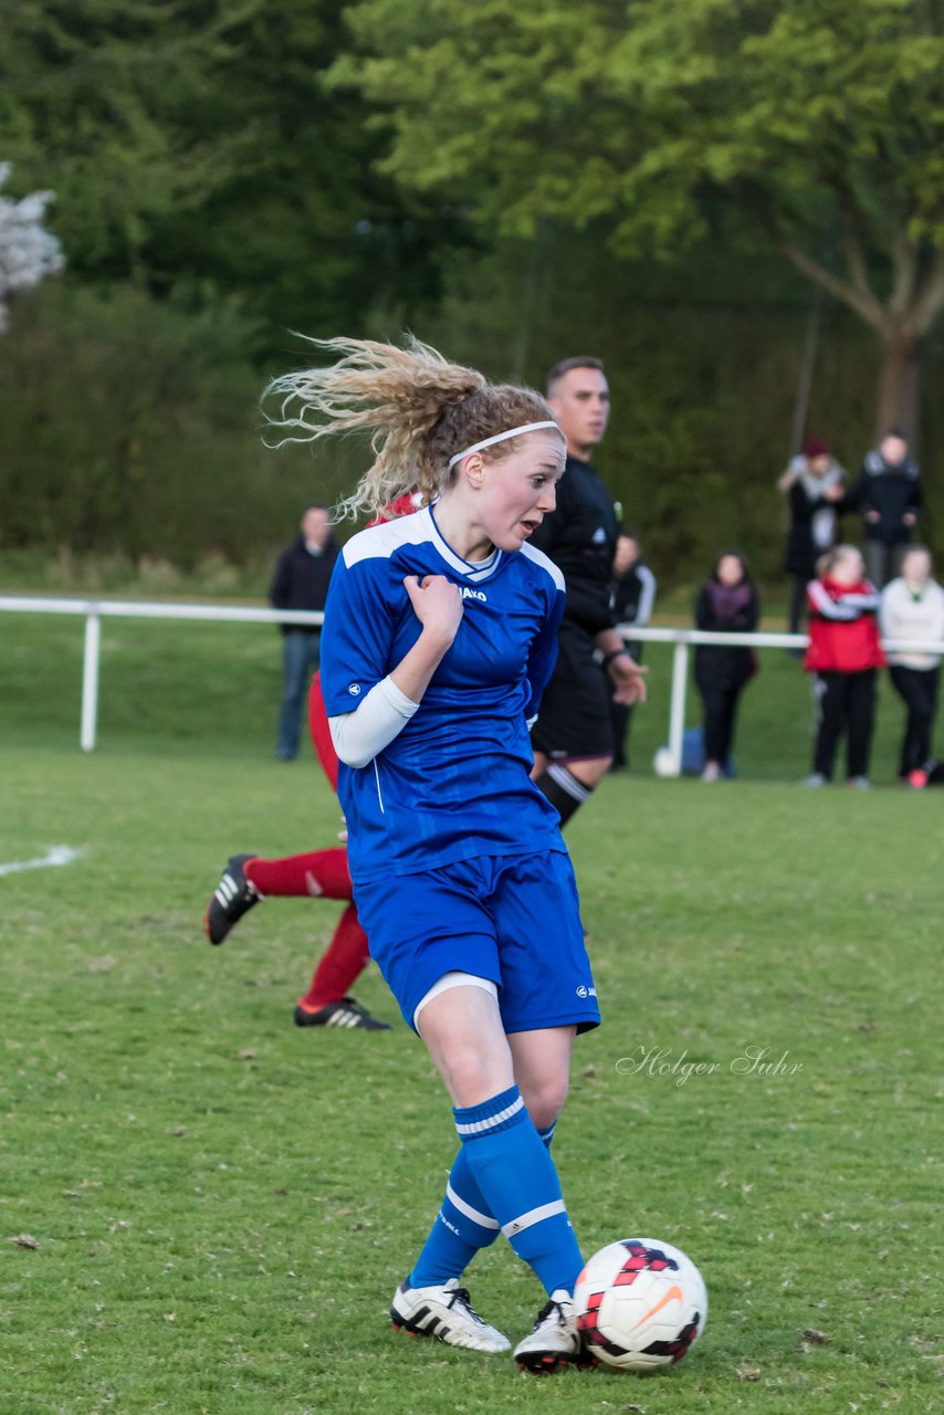
[[[301,535],[279,556],[269,599],[277,610],[323,610],[338,546],[331,536],[326,507],[309,507],[301,518]],[[318,666],[321,630],[309,624],[283,624],[282,665],[284,689],[279,713],[276,756],[293,761],[299,756],[301,712]]]

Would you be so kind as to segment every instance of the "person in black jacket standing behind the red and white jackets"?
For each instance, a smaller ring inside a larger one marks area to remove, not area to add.
[[[866,576],[882,589],[902,569],[921,511],[917,463],[900,427],[892,427],[862,463],[846,507],[862,512]]]

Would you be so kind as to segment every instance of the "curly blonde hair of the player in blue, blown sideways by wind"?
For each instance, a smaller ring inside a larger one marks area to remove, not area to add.
[[[374,340],[307,340],[337,355],[326,368],[273,379],[263,398],[280,399],[266,415],[282,433],[270,446],[318,441],[337,433],[369,432],[374,461],[340,516],[379,515],[406,492],[434,501],[454,473],[449,458],[473,443],[526,423],[552,419],[541,393],[512,383],[488,383],[474,368],[450,364],[429,344],[403,348]],[[484,449],[487,461],[514,451],[517,437]]]

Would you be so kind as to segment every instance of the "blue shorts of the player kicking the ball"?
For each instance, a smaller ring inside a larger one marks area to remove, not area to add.
[[[401,1012],[447,972],[490,978],[507,1033],[600,1024],[570,856],[485,855],[354,886],[358,917]]]

